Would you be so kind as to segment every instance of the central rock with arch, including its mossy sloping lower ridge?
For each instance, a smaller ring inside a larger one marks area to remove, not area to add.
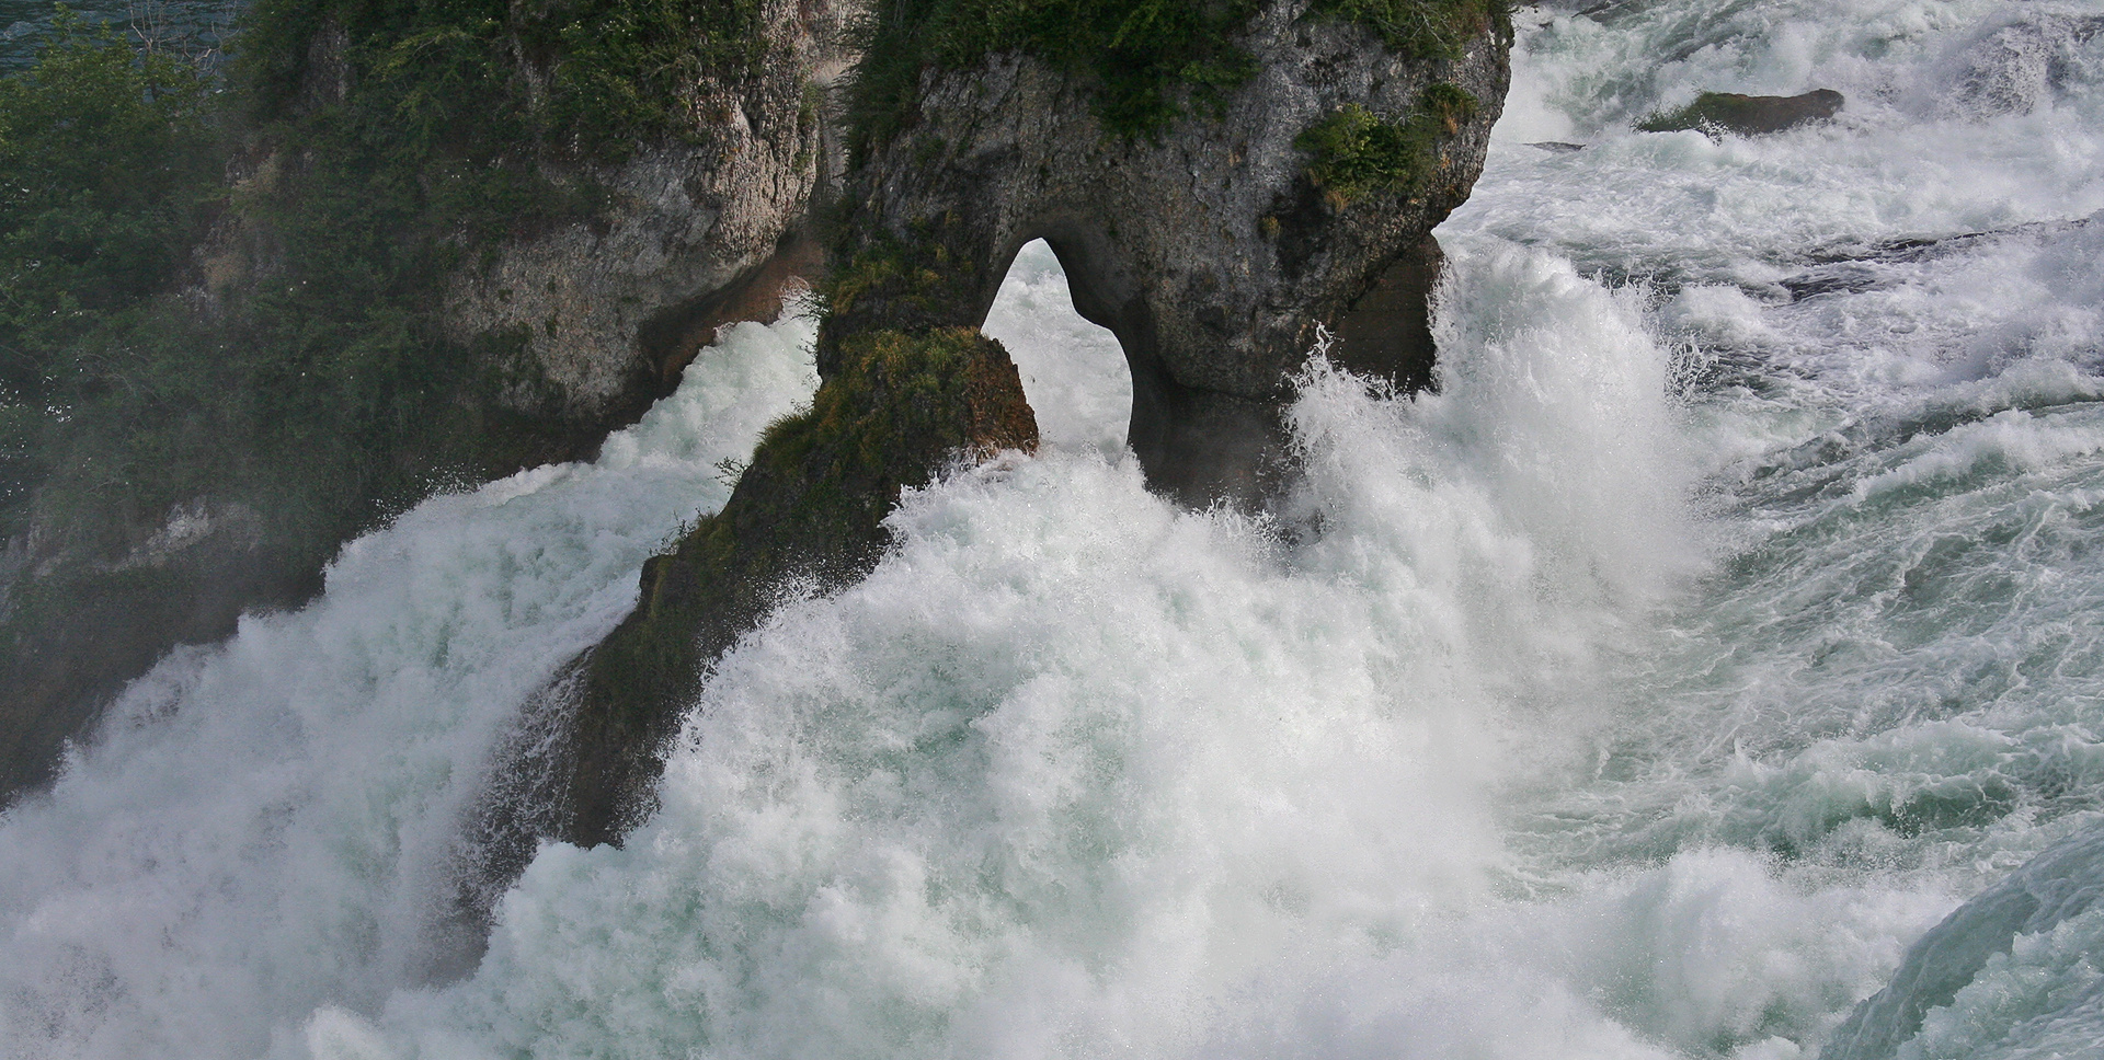
[[[534,726],[560,736],[522,747],[555,751],[499,770],[511,780],[486,808],[482,873],[515,869],[534,829],[616,841],[707,667],[785,578],[861,576],[901,486],[959,446],[1035,437],[1014,368],[976,332],[1029,240],[1052,244],[1075,309],[1124,343],[1132,448],[1185,503],[1262,501],[1317,324],[1342,322],[1353,368],[1429,376],[1429,233],[1483,164],[1509,78],[1502,6],[1199,4],[1132,55],[1142,13],[1025,15],[1004,36],[970,2],[877,6],[871,63],[888,65],[861,74],[816,412],[762,442],[724,513],[652,559],[638,612],[547,698]],[[1220,34],[1193,46],[1191,29]],[[915,53],[930,36],[947,44]],[[1170,74],[1111,84],[1134,67]],[[882,471],[837,456],[871,450]]]

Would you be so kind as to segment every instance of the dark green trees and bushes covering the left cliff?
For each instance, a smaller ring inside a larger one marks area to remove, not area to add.
[[[524,337],[465,349],[436,292],[598,208],[589,166],[547,160],[715,120],[709,86],[766,59],[757,8],[257,0],[223,84],[61,17],[0,78],[0,534],[34,501],[116,547],[210,496],[320,562],[431,488],[566,452],[507,355]],[[191,259],[215,223],[217,261]],[[175,299],[215,267],[244,273],[210,284],[223,305]]]

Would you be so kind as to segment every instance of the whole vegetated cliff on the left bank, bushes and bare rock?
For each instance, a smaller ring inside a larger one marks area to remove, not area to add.
[[[852,0],[703,4],[648,48],[623,0],[492,2],[252,8],[231,187],[116,339],[156,374],[67,398],[0,553],[0,801],[170,646],[305,599],[431,488],[589,458],[816,273]]]

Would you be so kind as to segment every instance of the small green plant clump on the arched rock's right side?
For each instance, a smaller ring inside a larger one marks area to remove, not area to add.
[[[1439,82],[1418,97],[1401,124],[1347,103],[1294,137],[1294,147],[1315,156],[1309,177],[1334,204],[1347,206],[1374,191],[1422,185],[1439,166],[1439,141],[1460,132],[1475,109],[1473,95]]]

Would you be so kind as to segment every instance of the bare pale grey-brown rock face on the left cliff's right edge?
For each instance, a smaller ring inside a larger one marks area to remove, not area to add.
[[[713,86],[713,116],[621,166],[566,172],[606,189],[593,217],[507,242],[446,292],[461,343],[522,330],[534,376],[564,414],[606,427],[669,393],[680,370],[739,320],[772,320],[791,278],[823,254],[808,208],[839,179],[825,93],[848,67],[852,0],[768,0],[768,61]],[[600,429],[604,433],[604,427]]]

